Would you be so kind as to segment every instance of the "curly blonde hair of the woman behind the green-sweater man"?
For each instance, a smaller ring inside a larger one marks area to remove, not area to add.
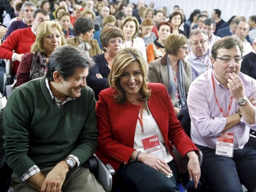
[[[37,37],[35,43],[33,43],[31,47],[31,52],[45,52],[45,47],[44,47],[44,37],[48,36],[51,33],[51,29],[55,27],[58,29],[58,31],[61,34],[61,45],[66,44],[66,40],[64,37],[64,33],[62,32],[61,25],[58,22],[55,21],[45,21],[42,23],[39,28],[37,29]]]

